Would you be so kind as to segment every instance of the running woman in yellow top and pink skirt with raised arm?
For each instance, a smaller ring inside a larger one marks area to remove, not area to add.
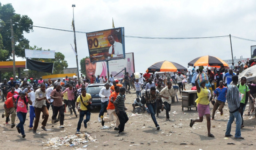
[[[190,127],[193,126],[195,122],[202,122],[203,121],[203,115],[206,116],[207,120],[207,130],[208,130],[208,136],[214,138],[214,135],[211,134],[211,119],[210,119],[210,108],[209,108],[209,100],[208,100],[208,90],[205,87],[206,81],[201,81],[200,85],[198,84],[198,78],[200,77],[201,72],[195,79],[195,86],[197,87],[197,96],[198,98],[195,100],[197,102],[197,110],[199,119],[196,120],[190,120]]]

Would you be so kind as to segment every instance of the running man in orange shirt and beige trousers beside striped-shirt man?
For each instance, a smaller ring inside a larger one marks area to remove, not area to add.
[[[117,96],[118,96],[118,94],[120,92],[120,87],[119,86],[115,86],[114,89],[115,89],[115,91],[111,93],[110,99],[109,99],[109,104],[107,105],[107,113],[109,114],[109,117],[102,118],[101,124],[102,124],[102,126],[104,126],[105,122],[113,121],[114,120],[114,116],[115,116],[117,118],[117,121],[115,122],[114,130],[119,130],[118,126],[119,126],[120,122],[119,122],[117,114],[115,113],[115,106],[114,106],[113,103],[114,103],[115,99],[117,98]]]

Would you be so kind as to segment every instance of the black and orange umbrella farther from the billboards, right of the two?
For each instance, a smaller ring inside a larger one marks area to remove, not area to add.
[[[229,67],[229,65],[224,62],[222,59],[219,59],[215,56],[201,56],[198,57],[194,60],[192,60],[191,62],[189,62],[187,65],[190,66],[209,66],[209,67]]]

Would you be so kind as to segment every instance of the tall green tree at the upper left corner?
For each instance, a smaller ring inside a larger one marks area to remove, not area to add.
[[[11,30],[10,19],[13,22],[14,43],[15,43],[15,55],[18,57],[25,57],[25,48],[29,48],[29,40],[24,37],[24,32],[30,33],[33,31],[33,21],[27,15],[16,14],[13,6],[10,3],[2,5],[0,3],[0,34],[2,39],[0,43],[3,45],[3,49],[7,50],[4,54],[0,53],[0,60],[8,60],[11,56]],[[0,45],[1,49],[1,45]],[[6,52],[8,52],[6,54]]]

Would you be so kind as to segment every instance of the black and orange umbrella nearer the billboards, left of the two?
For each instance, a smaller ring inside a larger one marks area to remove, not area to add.
[[[175,62],[160,61],[160,62],[154,63],[146,70],[146,72],[176,72],[176,71],[187,71],[187,69]]]

